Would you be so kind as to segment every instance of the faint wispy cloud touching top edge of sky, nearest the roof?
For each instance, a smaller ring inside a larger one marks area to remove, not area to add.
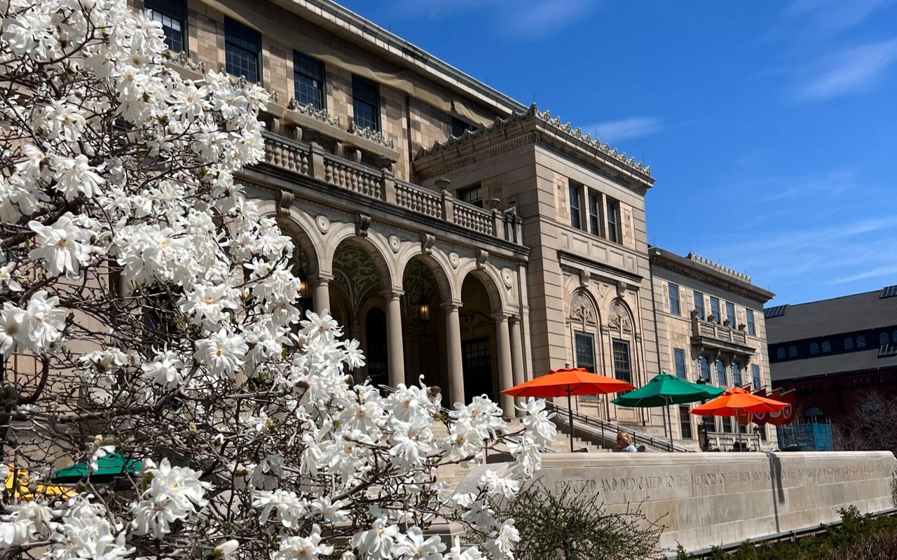
[[[582,22],[598,8],[594,0],[393,0],[389,17],[442,20],[464,15],[485,18],[508,39],[546,39]]]

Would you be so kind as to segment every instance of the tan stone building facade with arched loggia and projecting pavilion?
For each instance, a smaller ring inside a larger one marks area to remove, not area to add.
[[[271,92],[241,180],[300,248],[303,306],[361,340],[359,379],[510,410],[501,389],[564,363],[636,385],[666,367],[649,167],[327,0],[132,1],[179,72]]]

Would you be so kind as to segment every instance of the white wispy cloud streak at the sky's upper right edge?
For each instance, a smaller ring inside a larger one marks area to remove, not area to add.
[[[795,88],[797,101],[832,99],[867,90],[897,63],[897,39],[849,47],[823,62]]]

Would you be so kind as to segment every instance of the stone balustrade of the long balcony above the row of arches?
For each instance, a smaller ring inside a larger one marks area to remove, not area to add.
[[[265,135],[265,161],[296,175],[376,198],[436,220],[444,220],[479,234],[519,244],[516,214],[486,211],[457,200],[447,191],[436,193],[397,180],[388,169],[379,171],[327,153],[318,144],[297,142],[270,132]]]

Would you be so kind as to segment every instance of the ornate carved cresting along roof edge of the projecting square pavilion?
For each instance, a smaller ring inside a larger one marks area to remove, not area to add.
[[[466,130],[459,136],[449,137],[446,142],[436,142],[430,148],[421,148],[419,151],[417,151],[416,154],[414,154],[414,158],[424,158],[433,153],[437,153],[449,147],[455,146],[459,143],[466,142],[472,138],[490,134],[496,130],[501,130],[502,128],[516,125],[520,122],[528,121],[534,118],[544,122],[547,125],[551,125],[555,130],[562,134],[567,134],[572,140],[585,143],[592,149],[605,154],[605,156],[619,161],[624,166],[631,168],[631,170],[647,177],[651,177],[651,166],[646,166],[644,162],[636,161],[634,158],[628,157],[626,155],[626,152],[617,151],[616,148],[611,148],[607,143],[602,144],[598,138],[595,138],[593,140],[591,135],[582,134],[582,129],[573,128],[573,126],[570,125],[569,122],[562,123],[560,117],[552,116],[548,111],[540,111],[536,106],[536,103],[530,105],[526,113],[514,112],[508,118],[501,118],[501,116],[499,116],[495,118],[495,120],[492,122],[492,125],[482,126],[476,128],[475,130]]]

